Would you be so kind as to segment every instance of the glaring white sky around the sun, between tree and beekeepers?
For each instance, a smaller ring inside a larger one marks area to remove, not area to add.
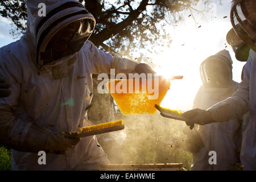
[[[184,75],[183,80],[171,82],[171,88],[164,98],[162,105],[171,109],[189,110],[193,105],[193,98],[201,86],[199,67],[202,61],[226,47],[233,59],[233,80],[241,81],[241,71],[245,63],[237,61],[232,48],[226,43],[226,34],[232,28],[229,19],[231,0],[213,0],[212,11],[205,14],[201,20],[196,16],[196,23],[190,13],[184,13],[184,21],[175,26],[166,27],[173,40],[171,47],[161,47],[159,55],[149,55],[154,63],[161,68],[156,71],[170,77]],[[199,9],[201,6],[198,7]],[[228,16],[224,18],[224,16]],[[215,18],[216,17],[216,18]],[[198,28],[201,26],[200,28]],[[9,34],[10,22],[0,16],[0,47],[14,40]],[[181,46],[183,45],[184,46]]]

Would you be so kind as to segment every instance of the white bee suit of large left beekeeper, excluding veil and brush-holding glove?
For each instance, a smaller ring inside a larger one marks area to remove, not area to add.
[[[45,3],[47,13],[75,0],[27,0],[27,31],[20,40],[0,49],[0,75],[11,84],[11,96],[0,99],[0,139],[11,146],[22,147],[32,123],[53,132],[76,132],[88,126],[86,111],[93,96],[92,73],[129,73],[137,63],[112,57],[86,42],[80,51],[56,63],[39,67],[36,45],[39,32],[55,20],[82,10],[71,6],[52,14],[46,22],[38,16],[39,3]],[[76,16],[69,16],[69,18]],[[68,74],[68,75],[67,75]],[[106,121],[108,122],[108,121]],[[11,151],[14,170],[97,169],[97,164],[109,163],[95,136],[82,138],[64,155],[46,154],[46,165],[38,164],[38,154]]]

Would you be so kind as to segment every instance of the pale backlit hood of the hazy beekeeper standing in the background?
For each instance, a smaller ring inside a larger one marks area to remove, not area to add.
[[[206,88],[229,88],[232,83],[232,59],[225,49],[200,65],[200,76]]]

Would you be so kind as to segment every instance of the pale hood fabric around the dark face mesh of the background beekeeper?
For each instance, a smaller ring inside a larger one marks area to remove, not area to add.
[[[200,65],[201,80],[203,81],[203,84],[204,84],[205,88],[209,88],[209,89],[214,88],[214,86],[209,84],[209,77],[207,75],[205,65],[209,62],[214,63],[216,61],[220,61],[220,63],[222,63],[221,66],[225,67],[226,68],[225,70],[228,72],[228,74],[227,74],[228,78],[226,78],[226,79],[228,79],[228,82],[227,82],[227,85],[225,86],[225,88],[229,88],[231,83],[232,83],[232,64],[233,64],[233,61],[230,57],[229,51],[226,51],[225,49],[216,53],[216,55],[208,57],[207,59],[205,59],[203,61],[203,63],[201,63],[201,65]],[[216,77],[218,77],[218,75],[216,75]],[[225,88],[222,88],[222,89],[225,89]],[[224,90],[222,90],[222,91],[224,91]]]

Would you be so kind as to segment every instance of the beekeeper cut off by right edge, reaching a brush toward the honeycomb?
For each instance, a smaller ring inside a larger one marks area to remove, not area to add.
[[[243,69],[243,80],[238,85],[237,91],[232,97],[227,98],[207,110],[194,109],[183,114],[183,116],[187,118],[187,125],[193,126],[195,123],[205,125],[207,123],[229,121],[230,119],[241,117],[247,111],[250,111],[250,121],[243,132],[240,155],[241,163],[245,170],[256,170],[255,9],[256,2],[254,0],[235,0],[232,3],[230,12],[232,26],[236,32],[236,36],[234,36],[230,42],[236,45],[236,54],[243,52],[246,55],[246,52],[248,52],[246,48],[240,49],[240,45],[242,45],[240,43],[242,42],[250,49],[249,57],[243,54],[240,56],[236,55],[236,57],[248,57],[245,68]]]

